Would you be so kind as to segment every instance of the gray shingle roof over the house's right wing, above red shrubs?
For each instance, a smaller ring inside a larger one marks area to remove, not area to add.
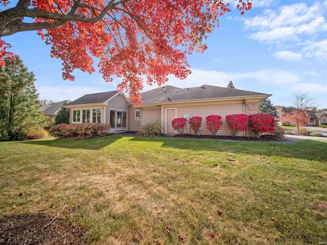
[[[166,88],[165,96],[163,88]],[[271,94],[211,85],[202,85],[192,88],[178,88],[166,85],[164,87],[155,88],[141,93],[141,100],[143,102],[142,105],[152,105],[169,102],[223,99],[225,97],[245,97],[252,95],[269,97]]]

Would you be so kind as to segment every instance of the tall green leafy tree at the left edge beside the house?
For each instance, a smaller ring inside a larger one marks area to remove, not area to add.
[[[33,72],[19,57],[5,62],[0,66],[0,140],[18,140],[42,129],[48,117],[38,112]]]

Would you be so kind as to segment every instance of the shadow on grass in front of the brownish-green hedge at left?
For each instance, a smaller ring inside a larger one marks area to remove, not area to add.
[[[107,145],[121,139],[122,135],[109,135],[102,138],[96,139],[56,139],[56,140],[33,140],[33,141],[20,141],[19,143],[30,144],[30,145],[43,145],[58,148],[67,149],[82,149],[82,150],[100,150]]]

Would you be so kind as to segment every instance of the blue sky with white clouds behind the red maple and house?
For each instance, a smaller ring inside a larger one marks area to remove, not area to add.
[[[232,80],[239,89],[273,94],[275,105],[291,106],[295,92],[308,92],[315,106],[327,108],[327,1],[253,0],[253,8],[243,16],[237,2],[228,1],[232,12],[222,16],[220,28],[208,36],[207,51],[189,57],[192,75],[183,81],[170,77],[168,84],[225,87]],[[40,99],[75,100],[115,90],[119,83],[105,83],[98,71],[75,71],[74,82],[64,81],[60,60],[50,58],[50,46],[36,32],[4,40],[34,72]],[[155,87],[145,85],[145,90]]]

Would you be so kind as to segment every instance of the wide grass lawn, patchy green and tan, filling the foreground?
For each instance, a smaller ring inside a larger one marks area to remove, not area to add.
[[[0,218],[55,217],[66,202],[59,217],[92,244],[327,241],[327,141],[0,142],[0,167]]]

